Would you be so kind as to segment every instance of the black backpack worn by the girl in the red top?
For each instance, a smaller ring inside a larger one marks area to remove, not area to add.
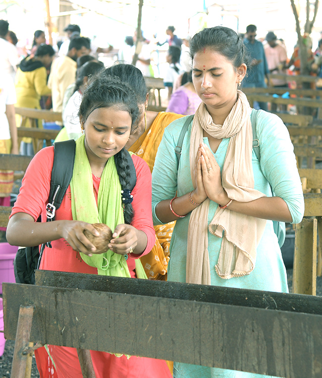
[[[73,175],[76,144],[73,139],[54,143],[54,162],[51,177],[51,190],[46,207],[47,222],[54,220],[55,211],[59,208]],[[126,154],[127,164],[130,166],[130,191],[136,184],[136,172],[130,154]],[[37,221],[41,221],[40,217]],[[16,283],[35,284],[35,269],[40,266],[45,245],[19,248],[13,270]],[[40,248],[39,248],[40,247]]]

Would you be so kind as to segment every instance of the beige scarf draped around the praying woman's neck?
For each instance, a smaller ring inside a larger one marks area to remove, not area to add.
[[[228,197],[239,202],[265,197],[265,194],[254,189],[250,112],[247,98],[241,91],[237,91],[237,102],[223,125],[213,123],[204,103],[197,109],[190,138],[190,170],[194,188],[195,161],[205,130],[217,139],[230,138],[221,174],[222,186]],[[209,205],[210,200],[207,199],[190,216],[186,267],[188,283],[211,284],[208,228],[212,234],[222,238],[218,263],[215,266],[219,277],[238,277],[250,274],[255,268],[256,248],[263,235],[266,219],[218,207],[208,227]]]

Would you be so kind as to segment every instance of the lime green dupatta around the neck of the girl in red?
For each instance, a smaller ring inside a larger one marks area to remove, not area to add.
[[[84,145],[85,136],[76,141],[76,153],[73,177],[70,181],[71,210],[75,220],[88,223],[105,223],[111,230],[117,224],[124,223],[121,201],[121,184],[119,182],[114,157],[108,159],[101,177],[98,203],[93,192],[93,177]],[[84,262],[97,268],[98,274],[117,277],[130,277],[125,257],[110,250],[103,254],[89,257],[80,253]],[[138,278],[147,279],[140,259],[135,260]]]

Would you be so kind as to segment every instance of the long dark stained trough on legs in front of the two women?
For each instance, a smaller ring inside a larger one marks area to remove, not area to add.
[[[322,297],[46,270],[36,270],[36,285],[2,287],[12,378],[46,343],[77,348],[91,378],[89,350],[321,377]]]

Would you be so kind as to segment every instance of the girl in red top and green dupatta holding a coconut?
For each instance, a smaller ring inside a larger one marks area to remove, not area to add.
[[[118,79],[98,75],[84,92],[79,115],[84,136],[76,141],[73,177],[55,220],[45,221],[54,159],[54,149],[48,147],[28,166],[8,223],[7,240],[24,246],[51,241],[52,248],[45,248],[40,269],[140,277],[144,270],[138,267],[139,257],[152,249],[155,231],[150,169],[135,155],[132,161],[137,181],[131,192],[133,197],[121,193],[129,184],[124,155],[128,152],[124,146],[139,115],[136,96]],[[115,203],[120,206],[108,211]],[[41,223],[36,222],[40,214]],[[96,248],[84,234],[88,230],[98,235],[92,225],[95,217],[108,225],[114,222],[110,226],[113,235],[109,255],[96,254]],[[114,270],[107,268],[107,256],[109,261],[116,262]],[[83,377],[76,349],[48,345],[48,352],[45,347],[35,352],[42,378]],[[98,351],[91,351],[91,356],[97,378],[172,377],[162,360],[117,357]]]

